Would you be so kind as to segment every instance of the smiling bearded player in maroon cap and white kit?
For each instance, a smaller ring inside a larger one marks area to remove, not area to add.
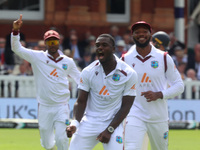
[[[140,21],[131,30],[136,44],[122,60],[137,72],[138,84],[137,96],[126,120],[125,150],[141,150],[146,132],[151,149],[167,150],[167,99],[181,94],[184,84],[172,58],[168,54],[165,57],[165,52],[150,44],[151,26]]]

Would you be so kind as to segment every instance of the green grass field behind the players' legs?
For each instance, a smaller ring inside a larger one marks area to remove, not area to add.
[[[169,150],[200,150],[200,130],[170,130]],[[0,129],[0,150],[44,150],[38,129]],[[98,144],[93,150],[103,150]],[[149,146],[150,150],[150,146]]]

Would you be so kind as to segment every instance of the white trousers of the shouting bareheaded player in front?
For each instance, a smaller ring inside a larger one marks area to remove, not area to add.
[[[101,121],[98,117],[84,116],[78,130],[73,134],[69,150],[92,150],[97,143],[97,136],[103,132],[109,121]],[[111,135],[110,141],[103,143],[104,150],[123,150],[123,125],[122,123]]]

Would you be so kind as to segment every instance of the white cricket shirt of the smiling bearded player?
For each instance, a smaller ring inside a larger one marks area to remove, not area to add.
[[[122,59],[138,74],[137,96],[128,115],[136,116],[147,122],[167,121],[167,99],[174,98],[184,90],[183,81],[172,58],[167,54],[166,72],[164,52],[153,45],[151,52],[145,58],[138,54],[134,45]],[[141,92],[146,91],[161,91],[163,99],[147,102],[146,98],[141,96]]]

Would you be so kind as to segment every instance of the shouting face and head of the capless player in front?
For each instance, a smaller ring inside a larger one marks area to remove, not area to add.
[[[96,56],[101,63],[110,61],[113,57],[115,47],[108,37],[99,37],[96,40]]]

